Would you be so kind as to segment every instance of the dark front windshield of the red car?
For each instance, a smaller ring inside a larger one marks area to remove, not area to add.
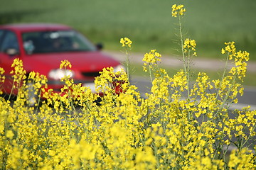
[[[23,33],[27,54],[46,52],[95,51],[95,45],[74,30]]]

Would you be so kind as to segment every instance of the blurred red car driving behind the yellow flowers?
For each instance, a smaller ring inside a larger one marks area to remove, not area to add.
[[[124,69],[122,64],[100,52],[100,45],[93,45],[78,31],[68,26],[48,23],[10,24],[0,26],[0,67],[6,78],[10,77],[11,64],[18,57],[26,72],[39,72],[48,77],[48,87],[60,91],[64,75],[75,83],[90,86],[95,91],[94,80],[105,67],[114,71]],[[72,70],[59,69],[60,62],[68,60]],[[6,93],[11,86],[4,86]]]

